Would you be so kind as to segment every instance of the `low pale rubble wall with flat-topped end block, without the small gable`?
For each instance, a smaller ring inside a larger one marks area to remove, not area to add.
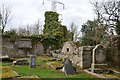
[[[91,67],[92,49],[93,46],[83,46],[74,51],[74,54],[52,52],[52,56],[60,59],[69,58],[73,64],[85,69]]]

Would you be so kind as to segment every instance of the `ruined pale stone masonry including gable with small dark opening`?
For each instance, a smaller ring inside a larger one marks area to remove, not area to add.
[[[92,61],[93,46],[83,46],[77,48],[73,42],[65,42],[61,53],[52,52],[53,57],[65,59],[69,58],[73,64],[80,68],[90,68]]]

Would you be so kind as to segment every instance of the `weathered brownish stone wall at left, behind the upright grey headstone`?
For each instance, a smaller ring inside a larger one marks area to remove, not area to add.
[[[22,40],[22,42],[21,42]],[[19,45],[20,44],[20,45]],[[36,55],[44,54],[44,48],[42,44],[37,43],[37,45],[33,50]],[[2,39],[2,55],[8,55],[9,57],[26,57],[27,54],[32,53],[32,47],[34,47],[31,43],[30,39],[22,38],[17,39],[16,42],[11,42],[9,37],[4,37]]]

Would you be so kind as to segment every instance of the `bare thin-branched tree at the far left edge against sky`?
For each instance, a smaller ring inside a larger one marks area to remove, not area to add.
[[[2,34],[3,34],[6,25],[12,19],[10,17],[10,15],[11,15],[11,9],[9,7],[6,7],[6,6],[3,5],[0,8],[0,14],[1,14],[1,29],[2,29]]]

